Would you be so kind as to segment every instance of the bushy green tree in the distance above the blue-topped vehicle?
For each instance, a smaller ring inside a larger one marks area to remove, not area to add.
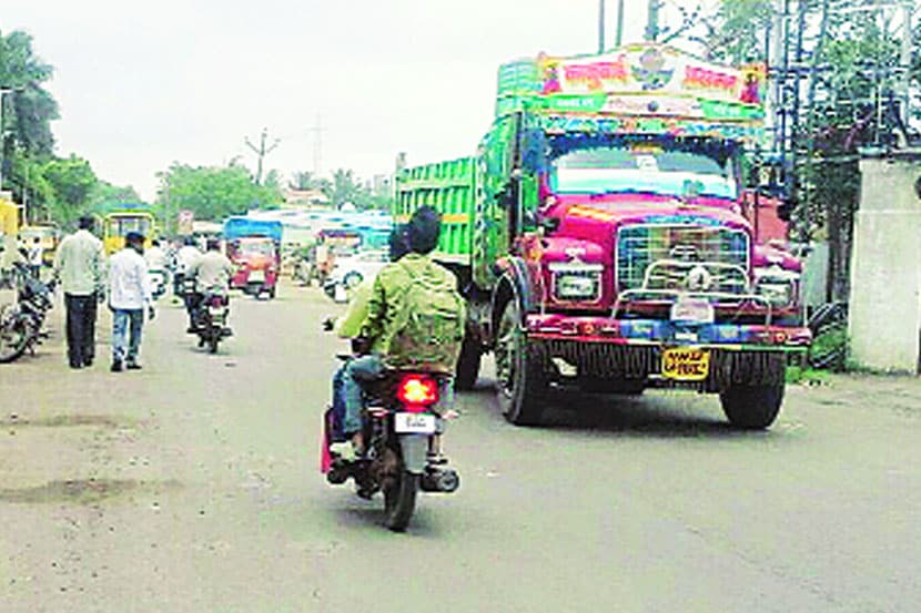
[[[273,208],[282,202],[280,177],[269,173],[257,185],[250,172],[235,163],[227,166],[190,166],[173,163],[158,173],[160,188],[156,205],[169,228],[182,210],[192,211],[196,219],[219,221],[245,214],[251,208]],[[271,181],[270,181],[271,178]]]

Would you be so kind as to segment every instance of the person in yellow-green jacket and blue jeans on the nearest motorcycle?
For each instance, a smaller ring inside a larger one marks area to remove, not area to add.
[[[442,219],[435,208],[422,206],[416,210],[406,226],[409,253],[398,262],[385,266],[374,279],[367,318],[362,327],[362,336],[367,340],[371,351],[351,360],[345,367],[343,377],[345,397],[343,430],[351,443],[351,449],[343,445],[331,447],[331,451],[338,453],[343,459],[348,460],[364,453],[363,385],[379,379],[387,367],[399,368],[403,364],[414,362],[412,354],[416,353],[415,350],[406,349],[404,355],[394,353],[392,347],[392,340],[402,331],[401,325],[406,320],[408,308],[406,296],[409,294],[409,287],[414,284],[425,284],[453,293],[457,310],[454,315],[460,321],[465,320],[465,307],[457,294],[457,279],[454,273],[436,264],[431,257],[432,252],[438,245],[441,231]],[[448,353],[453,350],[453,364],[439,365],[442,374],[439,405],[443,408],[449,408],[453,405],[453,374],[462,338],[429,337],[416,340],[418,344],[416,350],[422,349],[423,344],[446,346],[449,349]]]

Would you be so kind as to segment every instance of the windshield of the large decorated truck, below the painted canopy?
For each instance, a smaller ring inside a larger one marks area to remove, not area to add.
[[[731,164],[657,146],[591,146],[564,153],[550,170],[556,193],[648,193],[680,197],[688,182],[701,196],[735,198]]]

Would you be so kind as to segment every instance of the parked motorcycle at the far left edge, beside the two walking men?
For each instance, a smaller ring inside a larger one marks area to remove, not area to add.
[[[0,364],[19,359],[26,351],[34,355],[36,346],[48,338],[42,326],[53,306],[54,280],[44,284],[24,264],[12,266],[8,282],[17,296],[13,303],[0,307]]]

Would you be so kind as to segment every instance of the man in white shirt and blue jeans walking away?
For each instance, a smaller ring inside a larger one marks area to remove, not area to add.
[[[112,310],[112,372],[139,370],[144,308],[153,319],[153,299],[144,260],[144,237],[129,232],[125,248],[109,260],[109,308]]]

